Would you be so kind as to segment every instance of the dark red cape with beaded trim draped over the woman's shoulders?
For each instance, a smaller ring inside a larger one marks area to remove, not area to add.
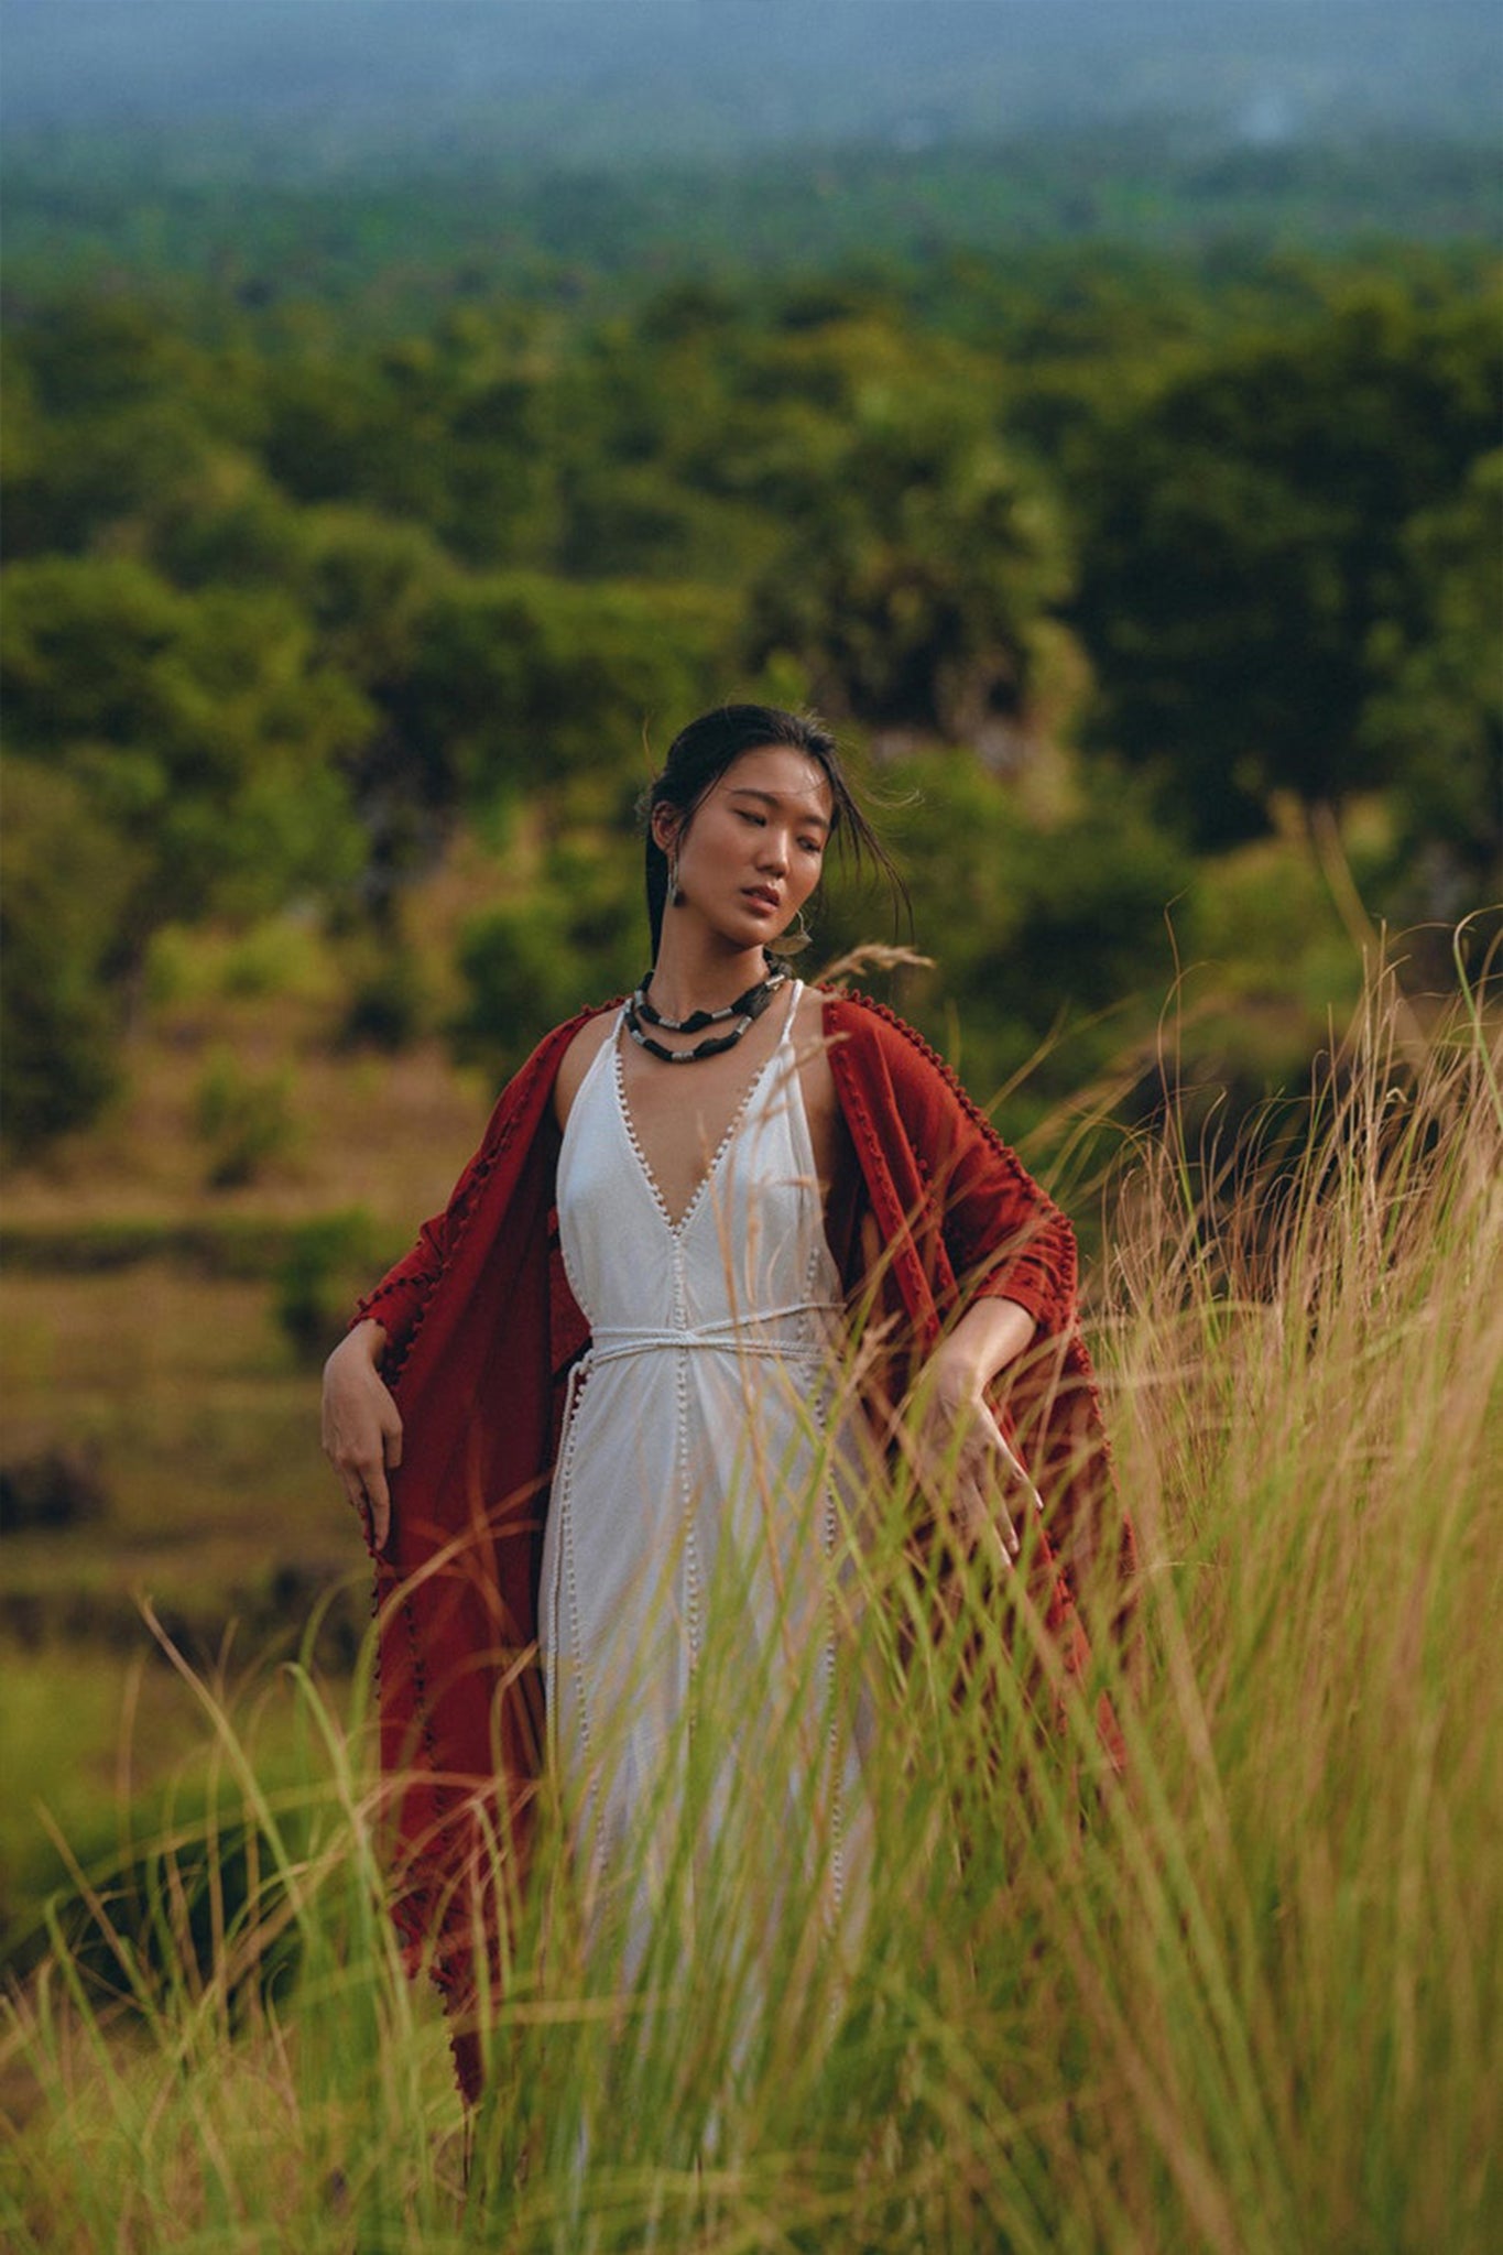
[[[856,1168],[827,1215],[847,1292],[870,1288],[904,1371],[976,1294],[1039,1330],[1010,1373],[1003,1430],[1046,1500],[1039,1597],[1084,1671],[1079,1597],[1124,1610],[1131,1529],[1115,1509],[1091,1364],[1075,1319],[1070,1224],[949,1067],[890,1010],[825,994],[825,1037]],[[442,1215],[361,1301],[388,1333],[403,1418],[392,1538],[376,1556],[381,1757],[397,1809],[397,1917],[462,1982],[475,1917],[496,1933],[498,1838],[525,1833],[541,1759],[536,1585],[563,1382],[588,1344],[559,1256],[554,1028],[503,1091]],[[863,1243],[883,1247],[872,1272]],[[1104,1736],[1120,1759],[1115,1723]]]

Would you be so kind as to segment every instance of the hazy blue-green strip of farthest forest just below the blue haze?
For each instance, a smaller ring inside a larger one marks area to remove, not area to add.
[[[719,106],[703,120],[705,162],[678,165],[658,149],[653,106],[638,101],[638,160],[622,165],[611,151],[606,162],[579,151],[579,108],[559,113],[527,86],[516,122],[532,142],[525,160],[516,131],[487,120],[439,162],[424,147],[394,174],[390,126],[403,88],[394,110],[372,113],[374,160],[318,180],[293,126],[291,162],[284,151],[270,174],[266,135],[237,140],[221,117],[171,144],[160,133],[142,144],[131,133],[11,131],[7,266],[25,289],[124,273],[158,289],[210,286],[257,311],[340,307],[367,329],[406,334],[475,295],[550,309],[581,295],[633,302],[662,273],[685,271],[710,295],[850,264],[881,264],[922,289],[955,257],[994,259],[998,244],[1019,262],[1106,244],[1113,257],[1199,253],[1210,266],[1289,244],[1327,255],[1379,244],[1381,257],[1390,244],[1496,244],[1487,126],[1431,138],[1368,124],[1343,140],[1248,149],[1226,144],[1217,92],[1210,140],[1163,117],[1019,122],[998,138],[1012,92],[971,140],[895,151],[890,135],[843,133],[836,153],[816,135],[773,153],[744,149],[737,162],[726,160]],[[561,162],[561,149],[575,160]],[[309,419],[327,415],[315,397]]]

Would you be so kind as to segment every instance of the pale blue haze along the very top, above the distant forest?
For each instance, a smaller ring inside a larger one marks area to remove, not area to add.
[[[1048,124],[1496,131],[1487,0],[5,0],[5,124],[203,178],[620,162]],[[74,147],[74,158],[77,158]]]

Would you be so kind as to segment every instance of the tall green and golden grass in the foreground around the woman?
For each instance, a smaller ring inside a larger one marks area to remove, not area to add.
[[[1420,1040],[1384,981],[1296,1139],[1140,1139],[1095,1324],[1145,1558],[1127,1784],[1088,1700],[1039,1727],[1019,1578],[935,1630],[895,1497],[831,1560],[834,1682],[773,1698],[719,1592],[629,1964],[543,1809],[469,2124],[365,1718],[293,1669],[273,1793],[201,1684],[210,1822],[9,2000],[9,2241],[1496,2246],[1501,1161],[1480,1015]],[[836,1887],[804,1736],[852,1712]]]

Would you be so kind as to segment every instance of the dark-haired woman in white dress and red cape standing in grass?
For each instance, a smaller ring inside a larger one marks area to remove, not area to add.
[[[818,1459],[845,1306],[883,1346],[870,1425],[944,1491],[953,1538],[1007,1563],[1043,1511],[1043,1608],[1075,1669],[1111,1520],[1068,1224],[917,1035],[775,952],[831,841],[890,870],[834,737],[708,713],[647,819],[649,979],[539,1044],[327,1367],[324,1450],[376,1560],[399,1924],[437,1942],[460,2002],[475,1935],[500,1946],[516,1858],[496,1840],[525,1845],[545,1745],[604,1858],[690,1696],[717,1545],[762,1540],[773,1578],[798,1574],[800,1536],[768,1522]],[[831,1513],[861,1454],[836,1443]],[[748,1454],[780,1466],[771,1486]],[[1113,1551],[1131,1572],[1127,1531]],[[602,1772],[590,1725],[626,1657],[640,1732]]]

